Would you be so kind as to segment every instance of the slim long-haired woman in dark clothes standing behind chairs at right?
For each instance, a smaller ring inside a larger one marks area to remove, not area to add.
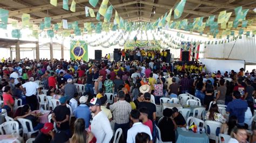
[[[213,101],[213,85],[210,80],[206,81],[205,84],[205,98],[204,98],[204,106],[206,110],[208,110],[210,103]]]

